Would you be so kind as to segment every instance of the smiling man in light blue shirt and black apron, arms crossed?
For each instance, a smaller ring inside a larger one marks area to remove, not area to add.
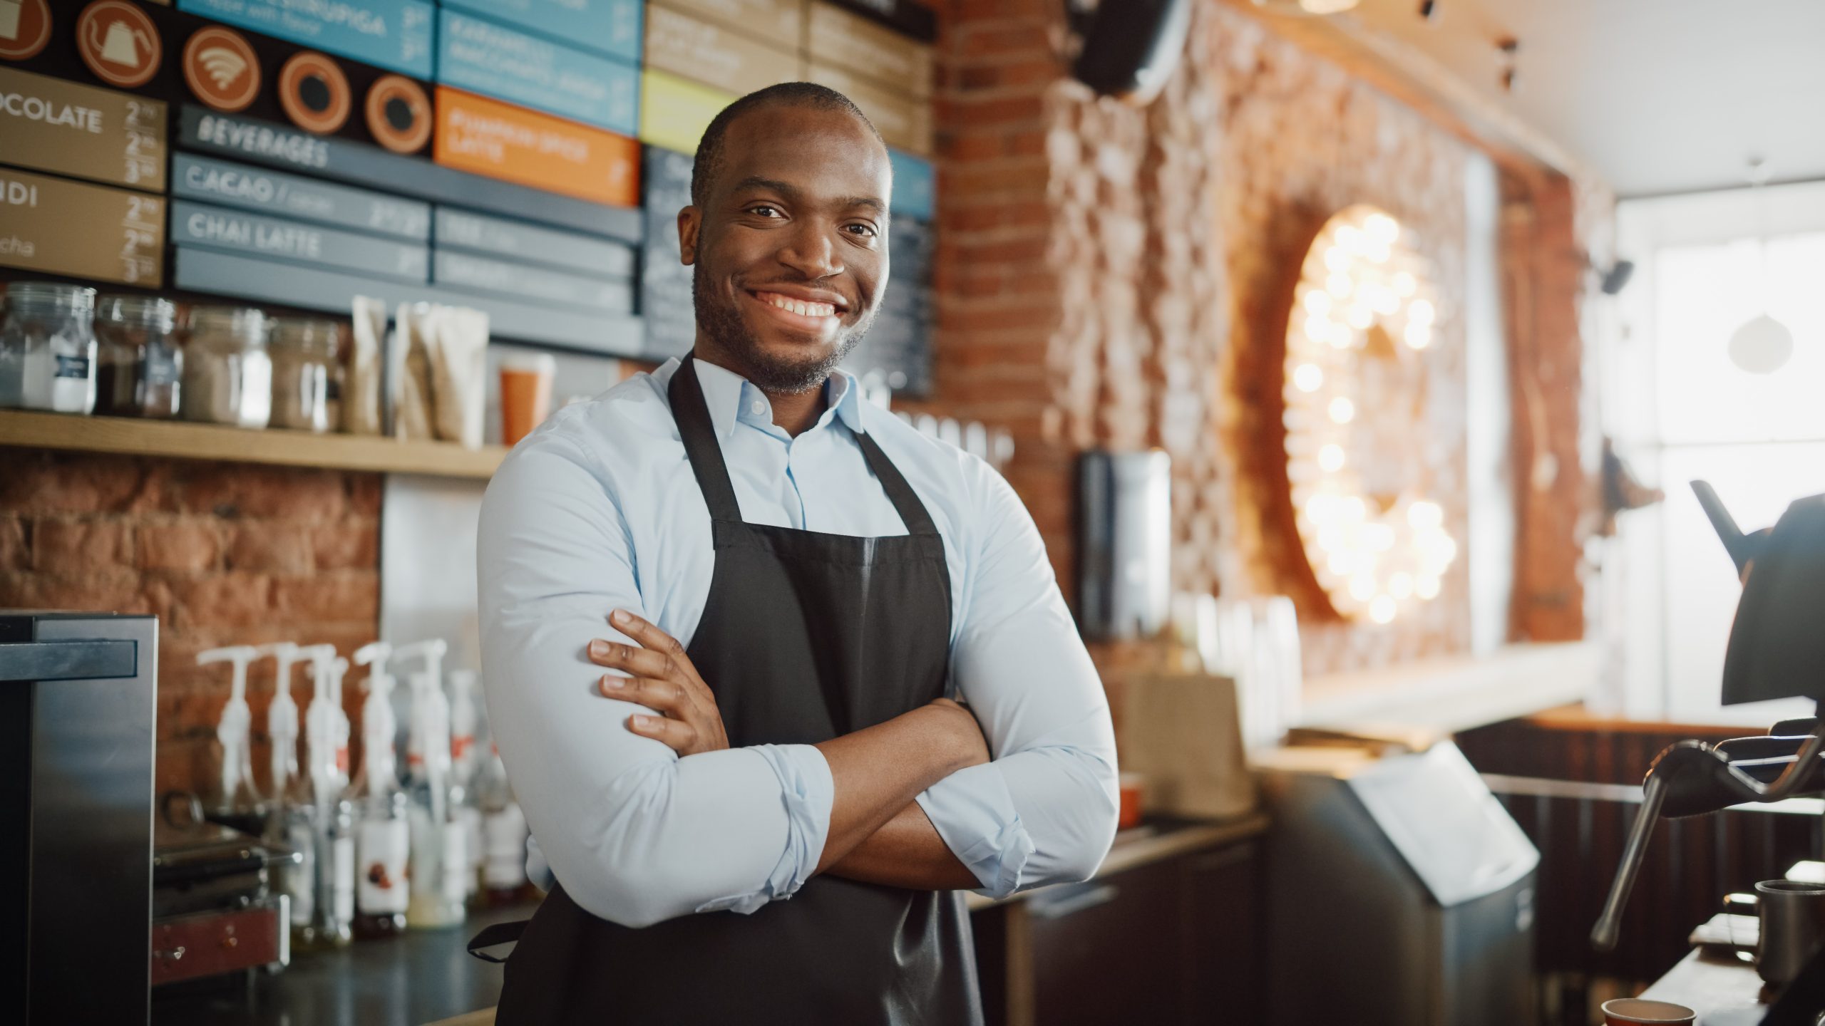
[[[958,891],[1108,853],[1108,705],[1038,531],[836,369],[891,186],[843,95],[730,104],[677,217],[690,358],[487,489],[489,717],[557,880],[498,1022],[980,1022]]]

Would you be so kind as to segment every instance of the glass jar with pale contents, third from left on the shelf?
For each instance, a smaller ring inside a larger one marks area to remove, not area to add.
[[[272,358],[266,314],[245,307],[195,307],[184,343],[184,420],[266,427]]]

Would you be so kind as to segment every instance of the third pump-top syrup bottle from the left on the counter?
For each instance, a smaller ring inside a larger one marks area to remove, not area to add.
[[[316,809],[316,891],[308,942],[319,947],[349,944],[354,924],[354,809],[349,803],[349,717],[341,710],[341,675],[349,661],[334,644],[299,650],[310,657],[314,690],[305,710],[305,765]]]

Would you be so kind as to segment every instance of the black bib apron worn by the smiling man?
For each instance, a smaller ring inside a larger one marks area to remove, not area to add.
[[[686,652],[715,692],[728,743],[810,745],[942,697],[944,540],[880,445],[856,434],[907,535],[746,524],[690,358],[668,394],[715,537],[710,595]],[[982,1022],[982,1002],[956,891],[812,876],[752,915],[630,929],[582,911],[558,885],[507,960],[496,1022],[969,1026]]]

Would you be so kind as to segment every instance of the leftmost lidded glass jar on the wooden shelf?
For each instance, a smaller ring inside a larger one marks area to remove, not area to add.
[[[15,281],[0,323],[0,407],[95,409],[95,290]]]

